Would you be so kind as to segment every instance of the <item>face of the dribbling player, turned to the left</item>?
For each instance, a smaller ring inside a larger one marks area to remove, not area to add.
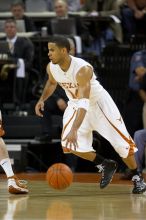
[[[63,60],[63,48],[57,47],[55,43],[48,43],[48,56],[53,64],[59,64]]]

